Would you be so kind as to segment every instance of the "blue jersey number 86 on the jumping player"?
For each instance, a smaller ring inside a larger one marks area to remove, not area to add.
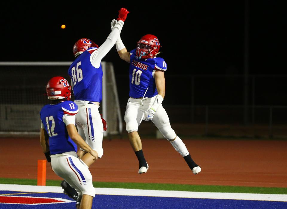
[[[84,51],[71,64],[68,74],[74,84],[73,92],[75,100],[100,102],[102,100],[102,64],[95,68],[91,64],[91,53],[97,50],[96,47]]]

